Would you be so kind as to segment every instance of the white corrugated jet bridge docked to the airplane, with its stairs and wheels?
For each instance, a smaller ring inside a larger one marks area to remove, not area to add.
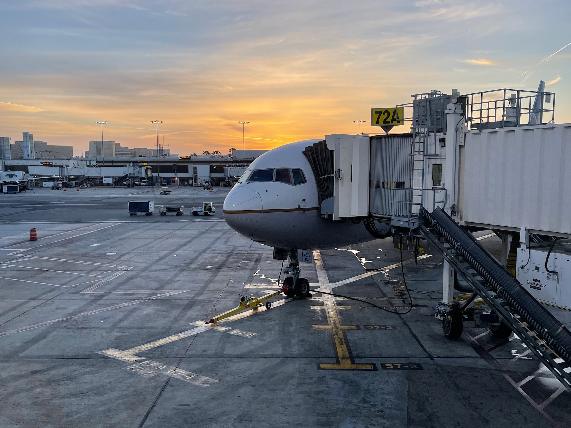
[[[390,225],[397,248],[440,253],[445,336],[514,332],[571,391],[571,333],[541,305],[571,309],[571,124],[554,123],[544,88],[416,94],[401,105],[409,133],[325,136],[321,215],[379,237]],[[490,229],[499,261],[470,233]]]

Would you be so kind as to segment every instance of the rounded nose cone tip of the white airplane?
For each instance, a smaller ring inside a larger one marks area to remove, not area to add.
[[[242,235],[252,235],[262,222],[262,198],[245,184],[237,184],[226,196],[222,212],[232,229]]]

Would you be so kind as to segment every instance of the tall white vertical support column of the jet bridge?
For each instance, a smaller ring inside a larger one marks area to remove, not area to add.
[[[446,114],[446,159],[444,160],[444,182],[442,187],[446,188],[446,203],[444,211],[446,211],[452,219],[460,217],[457,208],[457,183],[459,168],[459,142],[460,142],[460,122],[463,119],[464,111],[458,102],[459,92],[457,89],[452,90],[452,103],[447,105]],[[451,303],[454,297],[454,270],[444,259],[444,272],[442,283],[442,301]]]

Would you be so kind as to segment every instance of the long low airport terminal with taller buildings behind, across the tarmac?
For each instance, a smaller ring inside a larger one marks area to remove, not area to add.
[[[9,137],[0,137],[0,170],[20,171],[33,177],[35,185],[41,185],[38,177],[78,185],[132,185],[143,179],[162,185],[202,185],[204,181],[222,185],[238,180],[247,165],[266,151],[231,149],[228,155],[179,156],[164,147],[157,153],[156,148],[95,140],[89,142],[84,158],[73,156],[73,146],[34,141],[33,134],[23,132],[22,141],[14,144]]]

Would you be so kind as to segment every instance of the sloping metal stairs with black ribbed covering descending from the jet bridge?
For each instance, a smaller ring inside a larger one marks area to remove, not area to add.
[[[419,232],[571,392],[571,332],[442,209],[421,208]]]

